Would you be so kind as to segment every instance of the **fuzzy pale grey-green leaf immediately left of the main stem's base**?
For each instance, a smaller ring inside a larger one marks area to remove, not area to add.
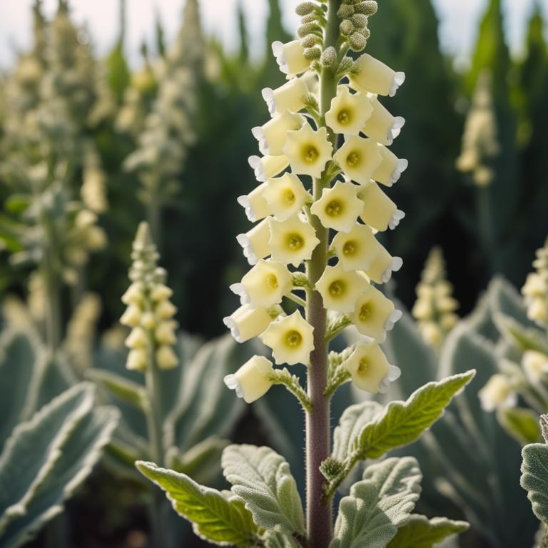
[[[289,536],[305,533],[295,479],[278,453],[270,447],[229,445],[221,466],[232,492],[245,503],[256,524]]]

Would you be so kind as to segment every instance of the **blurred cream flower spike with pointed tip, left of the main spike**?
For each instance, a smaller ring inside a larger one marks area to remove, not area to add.
[[[127,308],[120,318],[122,325],[131,328],[126,338],[128,369],[144,371],[151,366],[152,360],[159,369],[172,369],[178,365],[173,351],[177,328],[173,316],[177,309],[171,303],[172,291],[166,285],[166,270],[158,267],[158,258],[148,224],[141,223],[131,253],[131,285],[122,296]]]

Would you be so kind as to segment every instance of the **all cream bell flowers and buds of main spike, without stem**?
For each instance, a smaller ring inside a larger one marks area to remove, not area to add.
[[[375,10],[375,2],[345,1],[340,15],[363,33]],[[283,306],[293,300],[304,308],[312,292],[320,294],[331,318],[328,333],[333,325],[342,330],[354,324],[365,335],[367,342],[344,362],[348,378],[363,390],[379,392],[400,373],[379,343],[401,312],[377,286],[390,280],[402,260],[392,257],[376,234],[396,228],[404,217],[382,187],[396,183],[407,168],[407,161],[387,148],[405,121],[392,116],[378,98],[393,95],[404,75],[368,55],[353,64],[344,56],[347,46],[337,68],[339,52],[325,49],[318,72],[340,74],[340,66],[347,66],[349,72],[337,79],[349,76],[350,85],[340,83],[325,116],[318,116],[319,101],[310,91],[318,88],[310,84],[318,75],[299,75],[314,68],[307,63],[307,51],[323,43],[325,4],[304,2],[297,12],[305,19],[301,41],[273,45],[288,81],[263,90],[271,118],[253,128],[263,156],[251,156],[249,163],[259,184],[238,198],[255,223],[237,237],[251,268],[230,286],[240,297],[240,308],[224,321],[239,342],[260,337],[272,350],[272,360],[253,357],[225,379],[248,402],[274,384],[274,365],[310,365],[314,327],[303,310],[286,314]],[[340,43],[345,41],[343,34]],[[310,180],[320,181],[321,196],[313,197]],[[310,282],[306,265],[320,243],[314,228],[318,222],[330,238],[329,259],[323,275]]]

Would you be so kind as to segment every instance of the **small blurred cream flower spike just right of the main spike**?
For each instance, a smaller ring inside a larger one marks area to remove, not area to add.
[[[452,297],[453,288],[445,277],[445,261],[442,250],[432,248],[417,285],[417,300],[412,315],[424,340],[440,348],[459,321],[455,310],[459,303]]]

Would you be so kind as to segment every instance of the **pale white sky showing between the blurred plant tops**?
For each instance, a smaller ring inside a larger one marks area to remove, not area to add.
[[[126,51],[133,64],[138,60],[139,44],[143,39],[153,41],[155,13],[161,16],[166,38],[178,30],[181,9],[185,0],[127,0]],[[285,26],[293,32],[298,25],[294,14],[299,0],[282,0]],[[410,0],[411,1],[411,0]],[[487,0],[432,0],[440,18],[442,47],[450,54],[466,59],[475,40],[477,22],[487,5]],[[503,0],[507,36],[512,50],[519,54],[522,47],[524,24],[535,0]],[[548,17],[548,0],[537,0]],[[205,30],[220,37],[228,47],[237,41],[236,6],[242,2],[252,46],[263,52],[263,29],[267,0],[201,0]],[[44,0],[46,13],[56,9],[56,0]],[[111,48],[118,31],[117,0],[71,0],[73,18],[86,22],[91,31],[98,54]],[[0,0],[0,68],[10,66],[18,49],[26,49],[31,38],[32,0]],[[382,7],[382,5],[381,5]]]

